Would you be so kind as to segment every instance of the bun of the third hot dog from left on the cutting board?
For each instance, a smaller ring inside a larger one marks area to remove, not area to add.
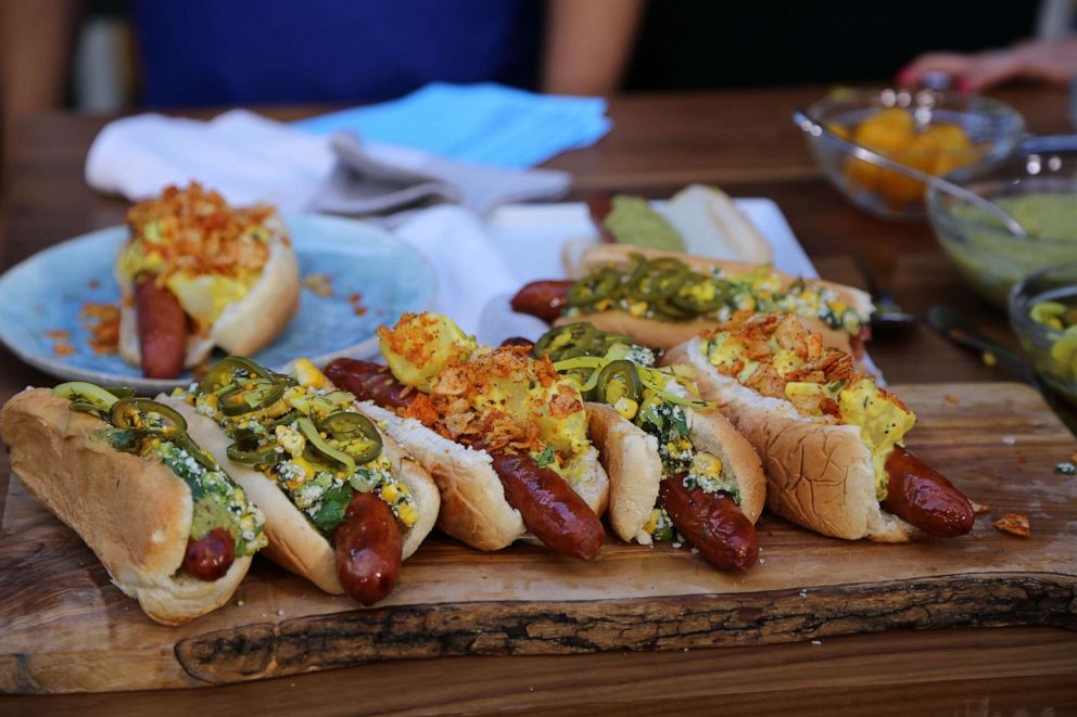
[[[487,452],[444,438],[370,401],[360,402],[359,410],[430,471],[441,490],[438,527],[479,550],[501,550],[523,537],[523,518],[505,500]],[[609,501],[609,479],[598,451],[591,448],[578,460],[583,461],[581,477],[570,486],[601,515]]]

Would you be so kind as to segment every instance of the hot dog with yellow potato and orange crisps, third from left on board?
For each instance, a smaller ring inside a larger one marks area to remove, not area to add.
[[[609,487],[579,392],[527,348],[478,346],[446,317],[404,315],[379,336],[390,376],[353,359],[326,374],[430,470],[439,526],[480,550],[530,530],[555,552],[595,558]]]

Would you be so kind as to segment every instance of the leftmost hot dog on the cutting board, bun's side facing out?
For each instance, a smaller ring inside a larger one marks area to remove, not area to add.
[[[2,411],[27,491],[165,625],[224,604],[266,543],[262,512],[191,438],[201,422],[83,382],[28,388]]]

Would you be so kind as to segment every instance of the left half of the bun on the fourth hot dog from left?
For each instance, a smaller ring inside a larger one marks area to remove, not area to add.
[[[658,441],[604,404],[587,404],[587,433],[609,474],[613,532],[625,542],[650,545],[644,526],[650,521],[662,482]]]

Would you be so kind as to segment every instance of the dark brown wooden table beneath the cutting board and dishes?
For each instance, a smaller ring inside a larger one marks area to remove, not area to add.
[[[987,333],[1012,343],[1004,317],[971,296],[920,223],[891,223],[853,209],[820,177],[789,111],[820,89],[633,95],[610,105],[613,132],[594,148],[549,163],[575,176],[575,196],[619,190],[664,196],[694,181],[734,196],[769,196],[828,279],[858,283],[851,257],[883,267],[902,306],[923,312],[946,300]],[[1073,131],[1063,91],[1016,89],[999,98],[1037,133]],[[282,118],[309,110],[275,111]],[[66,238],[118,223],[126,204],[83,180],[87,148],[106,118],[50,114],[14,138],[0,228],[3,266]],[[879,338],[872,356],[892,382],[1012,379],[921,328]],[[0,400],[50,380],[0,351]],[[0,465],[5,492],[7,457]],[[2,639],[2,636],[0,636]],[[207,690],[0,697],[0,712],[126,714],[235,708],[356,714],[517,712],[622,714],[963,713],[1077,709],[1077,636],[1053,628],[891,631],[823,644],[760,645],[688,653],[601,653],[557,657],[456,657],[382,663]]]

